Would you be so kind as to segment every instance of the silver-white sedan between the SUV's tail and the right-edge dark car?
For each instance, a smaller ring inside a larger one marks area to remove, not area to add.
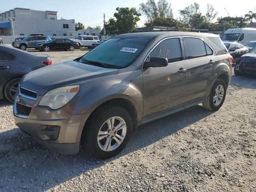
[[[236,61],[242,55],[246,54],[249,51],[248,48],[237,42],[224,42],[224,45],[228,49],[230,55],[233,57],[233,63],[236,63]]]

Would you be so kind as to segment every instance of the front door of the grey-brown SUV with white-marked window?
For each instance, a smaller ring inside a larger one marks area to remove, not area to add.
[[[143,117],[164,112],[186,102],[188,68],[182,56],[180,38],[168,38],[160,42],[150,57],[165,57],[168,66],[143,69]]]

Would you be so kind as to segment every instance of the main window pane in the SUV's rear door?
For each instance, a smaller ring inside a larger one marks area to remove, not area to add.
[[[198,38],[185,37],[186,59],[194,59],[207,56],[204,42]]]

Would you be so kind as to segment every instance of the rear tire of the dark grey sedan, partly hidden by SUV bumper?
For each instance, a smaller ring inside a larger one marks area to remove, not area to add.
[[[16,95],[16,90],[18,88],[20,82],[20,78],[16,78],[13,80],[10,80],[6,85],[4,86],[4,98],[10,102],[14,102],[14,98]]]

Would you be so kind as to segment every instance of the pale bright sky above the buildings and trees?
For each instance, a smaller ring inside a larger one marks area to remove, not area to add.
[[[156,0],[158,1],[158,0]],[[82,22],[87,28],[88,26],[103,26],[103,13],[106,14],[106,21],[113,17],[116,7],[135,7],[139,8],[140,3],[146,3],[147,0],[0,0],[0,12],[10,9],[29,8],[34,10],[50,10],[58,12],[58,19],[75,19],[76,22]],[[206,13],[207,3],[212,4],[216,11],[217,17],[228,16],[244,16],[249,10],[254,11],[256,7],[255,0],[246,0],[245,3],[236,3],[234,0],[169,0],[172,4],[174,18],[179,17],[179,10],[197,2],[200,4],[202,14]],[[226,9],[224,9],[226,8]],[[138,26],[142,27],[146,22],[144,16],[140,16]]]

